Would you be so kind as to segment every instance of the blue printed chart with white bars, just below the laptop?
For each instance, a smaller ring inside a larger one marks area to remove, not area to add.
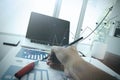
[[[31,60],[42,60],[48,56],[48,53],[35,49],[21,48],[17,53],[16,57],[31,59]],[[44,60],[45,61],[45,60]]]

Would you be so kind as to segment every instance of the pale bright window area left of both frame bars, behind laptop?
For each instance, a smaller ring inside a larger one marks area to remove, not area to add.
[[[26,35],[31,11],[53,15],[54,4],[55,0],[0,0],[0,32]]]

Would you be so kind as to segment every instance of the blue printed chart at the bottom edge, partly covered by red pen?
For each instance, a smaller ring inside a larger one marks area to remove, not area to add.
[[[5,74],[2,76],[1,80],[15,80],[14,74],[21,67],[11,65]],[[45,69],[34,69],[30,73],[24,75],[20,80],[49,80],[48,70]]]

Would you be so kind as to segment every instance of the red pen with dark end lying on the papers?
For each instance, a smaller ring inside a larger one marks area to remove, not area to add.
[[[24,76],[25,74],[29,73],[31,70],[34,69],[35,65],[38,64],[38,61],[29,63],[28,65],[26,65],[25,67],[23,67],[21,70],[19,70],[17,73],[15,73],[15,77],[20,79],[22,76]]]

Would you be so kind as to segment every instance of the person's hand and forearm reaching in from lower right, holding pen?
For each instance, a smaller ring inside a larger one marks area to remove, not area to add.
[[[81,58],[74,46],[53,46],[47,63],[52,68],[64,69],[69,80],[117,80]]]

